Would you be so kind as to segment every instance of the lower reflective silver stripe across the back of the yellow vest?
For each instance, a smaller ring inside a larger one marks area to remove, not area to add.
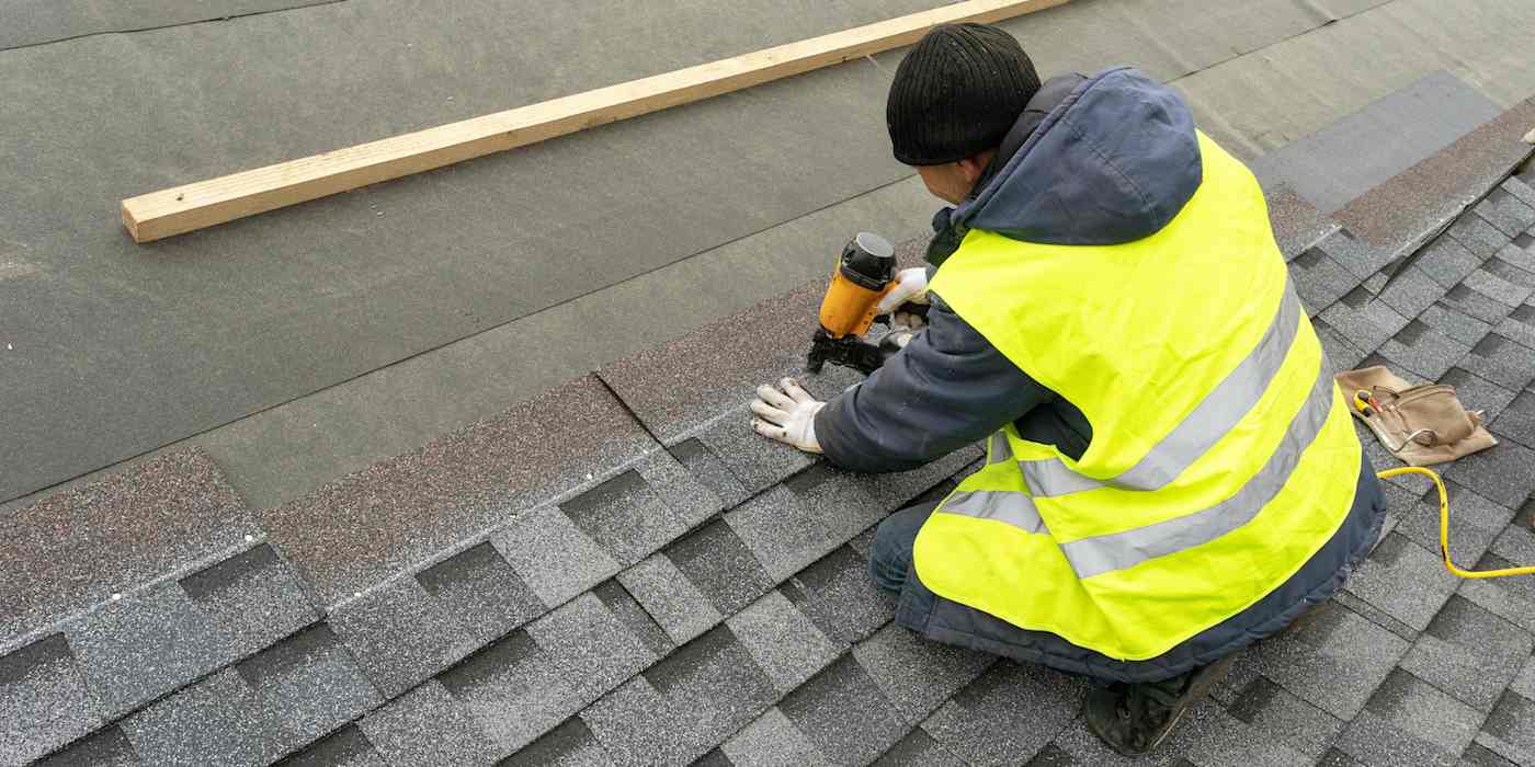
[[[1078,578],[1133,568],[1150,558],[1164,557],[1210,543],[1253,522],[1257,512],[1285,488],[1300,456],[1315,442],[1332,413],[1332,376],[1322,365],[1311,396],[1300,413],[1289,420],[1285,437],[1268,462],[1230,499],[1185,517],[1147,525],[1110,535],[1074,540],[1061,545]]]

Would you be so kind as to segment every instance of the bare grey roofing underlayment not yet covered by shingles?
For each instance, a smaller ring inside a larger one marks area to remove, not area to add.
[[[0,186],[0,508],[167,445],[295,500],[932,213],[872,140],[901,51],[149,245],[120,199],[936,5],[5,0],[0,176],[28,183]],[[1527,0],[1073,0],[999,26],[1041,72],[1173,83],[1246,160],[1438,71],[1484,103],[1417,94],[1385,149],[1535,94]]]

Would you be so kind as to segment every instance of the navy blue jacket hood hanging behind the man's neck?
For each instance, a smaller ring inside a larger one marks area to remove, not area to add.
[[[1202,178],[1182,97],[1136,69],[1110,69],[1078,84],[949,218],[961,232],[1117,245],[1165,227]]]

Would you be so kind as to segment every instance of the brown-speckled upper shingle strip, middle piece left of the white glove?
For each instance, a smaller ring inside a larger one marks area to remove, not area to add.
[[[321,601],[336,604],[657,448],[602,382],[586,376],[267,509],[262,520]],[[559,558],[551,551],[562,551],[563,542],[534,532],[525,543],[543,546],[528,557]],[[502,554],[519,563],[517,552]],[[565,565],[580,572],[580,561]],[[537,578],[519,572],[545,597]]]

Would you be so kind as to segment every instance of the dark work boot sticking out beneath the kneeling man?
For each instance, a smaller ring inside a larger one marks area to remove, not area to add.
[[[1151,753],[1183,712],[1226,676],[1233,658],[1226,655],[1171,680],[1093,689],[1082,706],[1087,729],[1125,756]]]

